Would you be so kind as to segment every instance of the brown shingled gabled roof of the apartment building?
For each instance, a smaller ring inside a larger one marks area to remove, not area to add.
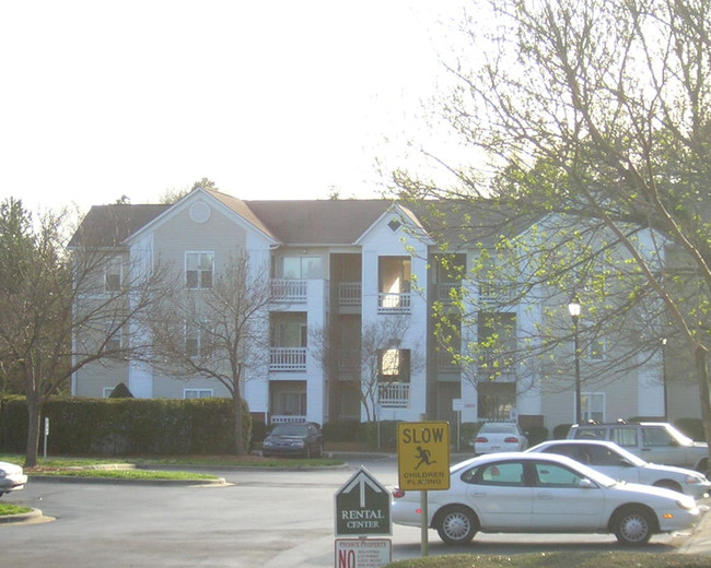
[[[203,192],[242,217],[275,242],[287,246],[350,246],[389,211],[405,217],[434,242],[471,247],[477,242],[494,242],[502,236],[513,236],[531,226],[534,220],[514,211],[505,211],[486,200],[422,201],[396,203],[386,199],[371,200],[279,200],[244,201],[212,189]],[[93,206],[70,241],[71,247],[90,244],[116,247],[148,225],[159,223],[161,215],[179,206],[190,194],[173,205],[112,204]]]

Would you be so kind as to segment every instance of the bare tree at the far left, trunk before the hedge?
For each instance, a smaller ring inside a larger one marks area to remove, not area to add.
[[[49,398],[86,365],[127,359],[145,347],[130,341],[129,322],[153,303],[162,273],[96,246],[86,227],[69,248],[66,213],[33,218],[20,201],[9,200],[0,217],[3,253],[13,259],[3,265],[0,287],[0,352],[5,368],[22,378],[28,411],[25,464],[34,466]],[[123,277],[109,282],[109,267],[117,262]]]

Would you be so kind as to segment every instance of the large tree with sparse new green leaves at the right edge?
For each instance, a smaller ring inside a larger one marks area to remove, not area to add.
[[[607,330],[625,324],[616,310],[633,315],[648,346],[669,330],[683,338],[711,439],[708,2],[497,0],[490,11],[477,8],[462,22],[468,51],[447,66],[456,87],[441,108],[448,132],[478,149],[480,162],[431,154],[456,187],[405,171],[395,174],[397,186],[418,202],[457,202],[464,226],[496,210],[477,228],[505,255],[525,250],[522,239],[505,237],[525,218],[537,230],[527,250],[539,247],[538,261],[520,271],[528,291],[545,284],[585,293],[598,316],[608,308]],[[540,220],[557,226],[536,228]],[[531,258],[512,260],[523,268]],[[615,299],[603,293],[605,280]]]

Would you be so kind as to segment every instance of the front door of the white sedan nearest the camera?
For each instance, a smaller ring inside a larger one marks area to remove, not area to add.
[[[536,530],[576,532],[605,526],[605,495],[597,485],[581,486],[584,476],[562,464],[534,461],[531,466]]]

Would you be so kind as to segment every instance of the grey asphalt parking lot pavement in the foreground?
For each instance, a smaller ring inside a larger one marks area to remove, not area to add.
[[[329,471],[222,471],[226,487],[31,482],[3,501],[51,519],[0,524],[2,565],[13,568],[335,566],[335,495],[361,464]],[[397,482],[391,458],[363,464],[383,485]],[[420,530],[394,525],[393,559],[421,555]],[[431,556],[619,549],[613,535],[477,534]],[[655,536],[650,553],[674,552],[684,536]]]

